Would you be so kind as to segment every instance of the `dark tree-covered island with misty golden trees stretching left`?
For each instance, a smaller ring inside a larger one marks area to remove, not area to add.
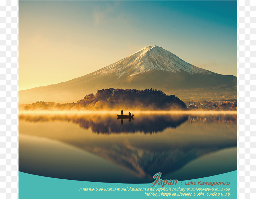
[[[77,103],[53,103],[38,101],[19,106],[25,110],[185,110],[187,105],[175,95],[166,95],[152,88],[145,90],[108,88],[89,94]]]

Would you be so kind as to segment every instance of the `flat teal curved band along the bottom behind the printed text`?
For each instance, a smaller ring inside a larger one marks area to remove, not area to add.
[[[32,175],[28,173],[23,173],[19,171],[19,198],[20,199],[86,199],[86,198],[227,198],[236,199],[237,198],[237,170],[192,180],[196,182],[197,185],[185,185],[186,181],[178,181],[177,185],[165,185],[166,188],[210,188],[213,190],[201,190],[201,191],[165,191],[165,190],[154,190],[154,191],[131,191],[130,188],[150,188],[149,184],[121,184],[121,183],[99,183],[99,182],[86,182],[86,181],[75,181],[75,180],[65,180],[50,177],[43,177],[38,175]],[[230,182],[229,185],[198,185],[198,181],[205,182]],[[153,181],[152,181],[153,182]],[[187,181],[191,182],[191,180]],[[164,186],[164,187],[165,187]],[[106,187],[109,188],[126,188],[127,191],[107,191]],[[156,188],[161,188],[161,185],[154,186]],[[154,188],[152,187],[152,188]],[[224,191],[216,191],[215,188],[224,188]],[[83,188],[98,188],[102,191],[80,191]],[[226,191],[229,188],[230,191]],[[171,193],[169,196],[145,196],[146,193]],[[172,193],[201,193],[203,192],[205,196],[173,196]],[[230,193],[229,196],[207,196],[207,193]]]

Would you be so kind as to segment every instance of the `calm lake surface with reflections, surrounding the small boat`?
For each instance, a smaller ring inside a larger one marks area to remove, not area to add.
[[[237,115],[19,114],[19,171],[82,181],[151,183],[237,169]]]

